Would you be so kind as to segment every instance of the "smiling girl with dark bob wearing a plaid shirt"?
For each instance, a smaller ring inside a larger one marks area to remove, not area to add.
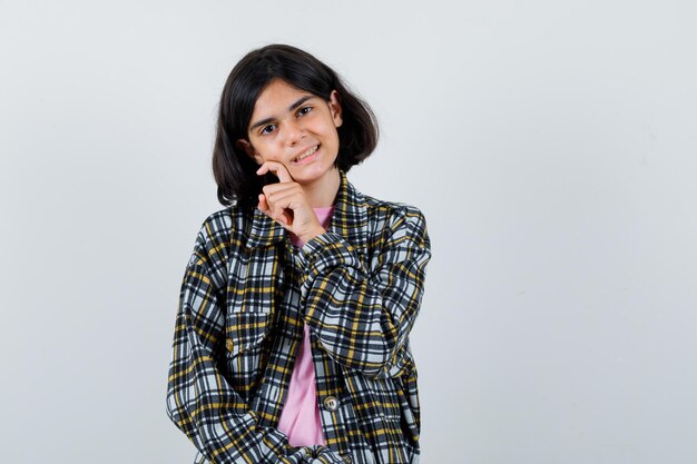
[[[313,56],[272,45],[230,72],[213,167],[226,206],[181,285],[167,413],[196,463],[419,461],[409,333],[422,213],[357,191],[369,106]]]

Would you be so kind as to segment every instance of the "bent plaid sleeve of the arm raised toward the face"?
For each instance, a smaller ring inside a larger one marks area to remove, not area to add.
[[[411,362],[409,333],[431,259],[418,208],[404,205],[391,223],[371,269],[338,234],[327,231],[303,246],[305,322],[333,359],[371,377],[396,377]]]

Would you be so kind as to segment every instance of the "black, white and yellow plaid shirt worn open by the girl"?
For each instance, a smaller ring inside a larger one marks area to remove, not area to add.
[[[415,207],[359,192],[341,174],[325,234],[295,248],[258,209],[210,215],[186,268],[167,414],[196,463],[418,463],[409,333],[431,244]],[[325,446],[276,428],[310,326]]]

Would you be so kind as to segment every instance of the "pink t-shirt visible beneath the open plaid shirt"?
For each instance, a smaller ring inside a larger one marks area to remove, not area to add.
[[[313,209],[322,223],[322,227],[326,229],[334,207]],[[304,245],[295,234],[291,234],[291,241],[296,247]],[[278,421],[278,430],[288,436],[291,446],[324,445],[324,433],[315,388],[315,366],[312,362],[307,324],[303,324],[303,342],[295,358],[288,394]]]

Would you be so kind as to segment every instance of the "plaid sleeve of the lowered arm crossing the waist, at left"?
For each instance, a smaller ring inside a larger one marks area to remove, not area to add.
[[[341,463],[323,446],[293,447],[287,436],[258,425],[257,415],[219,371],[225,337],[224,247],[204,224],[189,260],[176,316],[167,384],[167,415],[210,463]],[[217,282],[217,285],[216,285]]]

